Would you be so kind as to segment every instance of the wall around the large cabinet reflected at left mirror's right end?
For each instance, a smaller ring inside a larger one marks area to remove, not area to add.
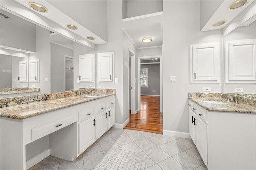
[[[74,42],[73,44],[73,57],[74,57],[74,90],[79,88],[89,88],[90,85],[94,86],[94,83],[76,83],[76,79],[79,79],[79,55],[82,54],[95,54],[95,50],[85,45]],[[95,55],[94,55],[94,62]],[[94,64],[95,65],[95,64]],[[95,71],[96,73],[96,71]],[[94,75],[95,75],[94,73]],[[95,80],[94,80],[95,81]]]

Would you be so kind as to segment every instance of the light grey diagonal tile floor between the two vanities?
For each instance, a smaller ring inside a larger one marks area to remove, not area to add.
[[[191,139],[110,128],[73,162],[48,156],[29,170],[207,170]]]

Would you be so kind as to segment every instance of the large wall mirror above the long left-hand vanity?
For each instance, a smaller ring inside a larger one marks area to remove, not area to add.
[[[10,17],[1,16],[0,88],[26,86],[40,88],[41,93],[54,93],[95,87],[95,81],[77,81],[79,55],[91,54],[95,60],[95,49],[51,32],[50,29],[37,26],[5,10],[1,9],[0,12]],[[32,68],[29,63],[36,60],[38,61],[37,81],[30,81],[32,77],[29,75],[34,74],[30,74]],[[20,61],[27,61],[28,64],[26,82],[18,81]],[[92,64],[94,69],[94,62]],[[10,65],[13,65],[12,70],[4,67]],[[8,79],[8,84],[3,79]]]

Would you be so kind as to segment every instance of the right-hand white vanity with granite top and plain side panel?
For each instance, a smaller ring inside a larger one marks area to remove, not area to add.
[[[190,136],[209,170],[256,169],[256,107],[220,94],[189,94]]]

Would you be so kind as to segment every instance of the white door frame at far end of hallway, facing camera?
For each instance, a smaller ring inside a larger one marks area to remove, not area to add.
[[[160,65],[159,65],[159,72],[160,72],[160,113],[163,113],[163,90],[162,90],[162,55],[150,55],[150,56],[143,56],[138,57],[138,109],[140,111],[140,63],[141,59],[152,59],[152,58],[159,58]]]

